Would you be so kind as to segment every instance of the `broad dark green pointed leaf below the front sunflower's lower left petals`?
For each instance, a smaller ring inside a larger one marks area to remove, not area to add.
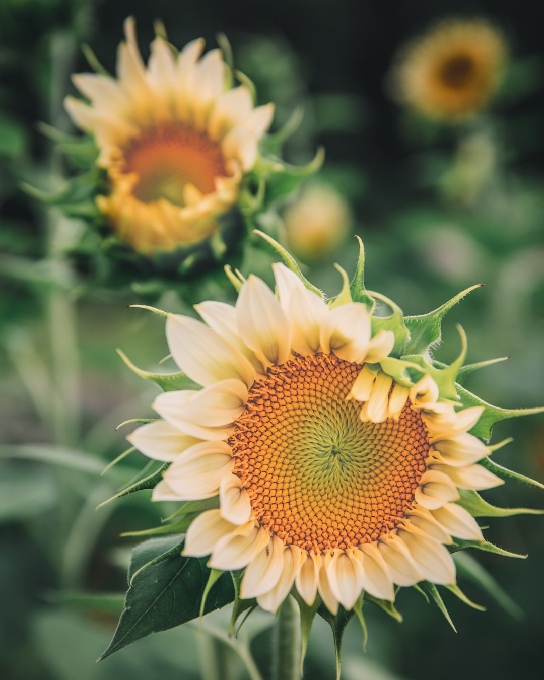
[[[101,660],[152,632],[180,626],[199,616],[210,570],[205,564],[207,558],[180,555],[180,539],[151,539],[134,549],[129,566],[129,583],[133,585],[126,592],[114,637]],[[173,556],[135,575],[142,566],[171,551],[175,551]],[[228,605],[234,596],[231,577],[226,573],[209,590],[204,613]]]

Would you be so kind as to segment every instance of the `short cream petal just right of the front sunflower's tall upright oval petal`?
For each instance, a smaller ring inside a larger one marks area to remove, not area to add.
[[[321,326],[328,309],[320,296],[307,288],[294,290],[288,318],[291,322],[291,345],[299,354],[316,354],[321,347]]]

